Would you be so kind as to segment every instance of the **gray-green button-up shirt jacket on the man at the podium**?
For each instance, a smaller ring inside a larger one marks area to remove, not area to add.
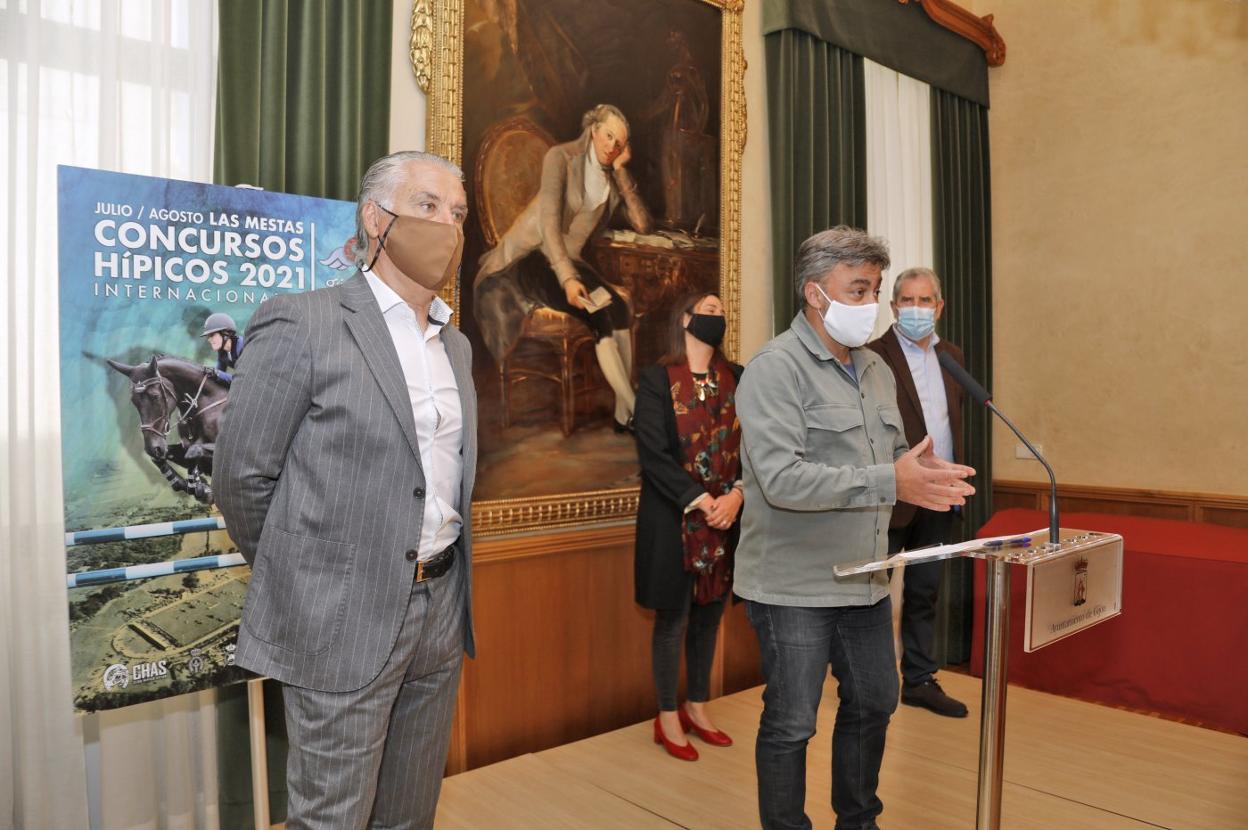
[[[736,391],[745,509],[734,590],[773,605],[871,605],[885,572],[839,563],[887,555],[892,463],[909,449],[892,371],[850,351],[854,378],[799,313],[745,368]]]

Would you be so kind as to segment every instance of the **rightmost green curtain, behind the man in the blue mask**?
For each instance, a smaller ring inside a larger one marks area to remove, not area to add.
[[[938,333],[962,347],[966,368],[985,386],[992,382],[992,233],[988,187],[988,110],[931,91],[932,267],[945,286]],[[978,472],[976,496],[962,514],[973,535],[992,514],[991,413],[970,404],[962,419],[966,463]],[[971,657],[971,562],[945,569],[936,619],[936,658],[965,663]]]

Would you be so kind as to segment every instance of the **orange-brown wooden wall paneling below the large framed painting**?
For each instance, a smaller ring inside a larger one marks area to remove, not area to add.
[[[482,540],[475,660],[464,663],[447,773],[654,716],[654,614],[633,602],[633,525]],[[761,683],[744,604],[725,610],[714,695]],[[684,695],[684,666],[680,689]]]

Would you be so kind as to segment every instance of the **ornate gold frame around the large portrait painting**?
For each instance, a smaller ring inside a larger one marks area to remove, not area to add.
[[[629,0],[646,6],[711,6],[719,11],[719,295],[728,310],[729,325],[724,351],[738,354],[740,343],[740,230],[741,230],[741,155],[746,140],[745,56],[741,44],[744,0]],[[464,46],[466,9],[505,9],[524,14],[540,7],[543,0],[414,0],[412,6],[411,61],[421,89],[428,96],[426,149],[463,166],[464,162]],[[579,0],[582,15],[608,15],[619,11],[619,0]],[[635,7],[635,6],[634,6]],[[681,11],[688,11],[684,9]],[[701,14],[701,12],[698,12]],[[549,20],[545,21],[549,24]],[[604,22],[609,25],[609,21]],[[514,17],[512,19],[514,31]],[[706,34],[706,32],[701,32]],[[664,60],[661,55],[646,55]],[[499,116],[502,117],[502,115]],[[474,192],[474,170],[466,168],[469,198]],[[472,208],[475,211],[477,206]],[[694,231],[696,235],[696,230]],[[470,291],[473,276],[466,257],[464,273],[449,286],[446,300],[456,311],[457,322],[463,292]],[[478,359],[482,359],[478,357]],[[488,359],[488,358],[485,358]],[[505,379],[504,379],[505,383]],[[482,382],[478,379],[478,388]],[[473,527],[478,538],[513,533],[533,533],[585,524],[622,523],[634,518],[638,487],[587,488],[584,491],[487,498],[473,503]]]

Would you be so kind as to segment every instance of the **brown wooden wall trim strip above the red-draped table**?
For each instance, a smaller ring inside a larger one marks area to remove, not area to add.
[[[992,507],[997,510],[1010,507],[1047,510],[1048,483],[995,481]],[[1144,515],[1248,528],[1248,498],[1218,493],[1058,484],[1057,508],[1072,513]]]

